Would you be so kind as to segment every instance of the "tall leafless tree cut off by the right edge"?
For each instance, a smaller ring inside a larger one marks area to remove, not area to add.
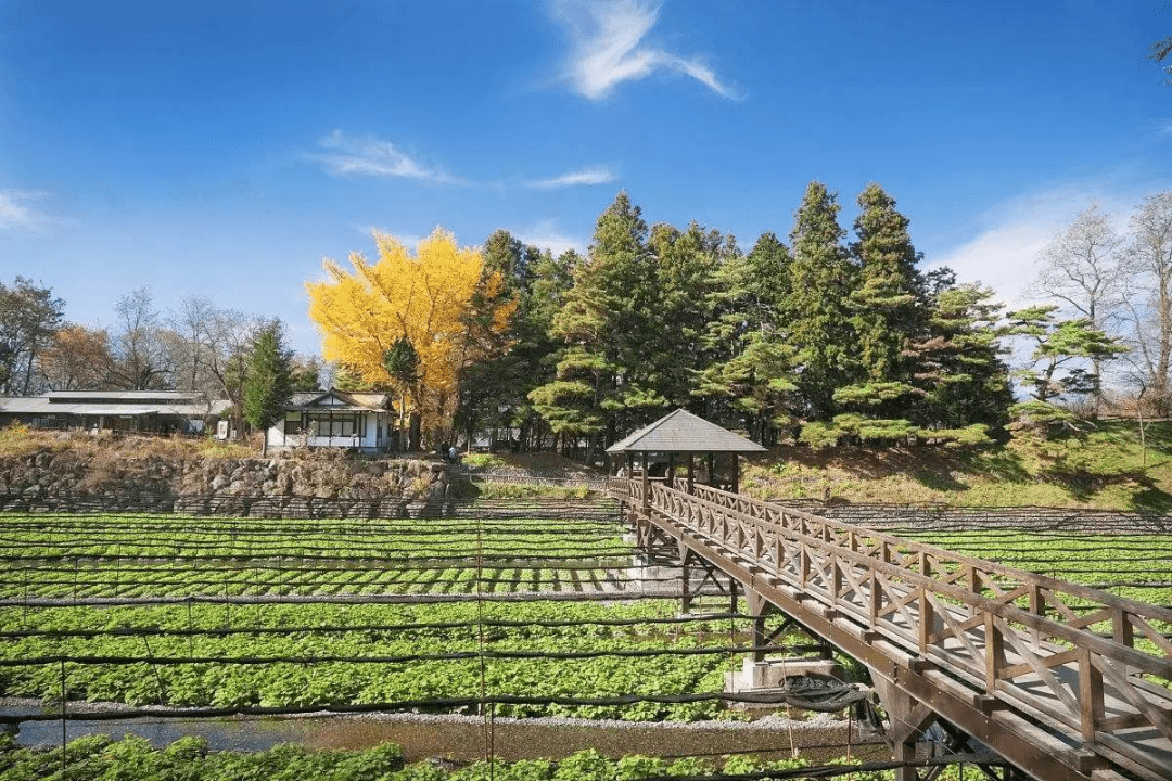
[[[1160,415],[1172,407],[1172,191],[1149,196],[1131,218],[1132,242],[1120,292],[1129,324],[1131,361]]]

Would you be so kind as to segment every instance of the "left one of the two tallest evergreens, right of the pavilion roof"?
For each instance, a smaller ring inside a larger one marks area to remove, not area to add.
[[[789,342],[797,351],[797,386],[809,420],[830,420],[834,390],[852,377],[854,329],[850,297],[857,269],[841,245],[839,205],[819,181],[811,181],[795,215],[793,260],[782,307]]]

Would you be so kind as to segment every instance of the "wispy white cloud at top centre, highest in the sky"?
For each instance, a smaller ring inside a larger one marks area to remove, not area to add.
[[[639,0],[558,0],[556,15],[570,35],[566,78],[592,101],[606,97],[625,81],[657,70],[690,76],[722,97],[736,97],[708,64],[643,42],[659,20],[659,6]]]

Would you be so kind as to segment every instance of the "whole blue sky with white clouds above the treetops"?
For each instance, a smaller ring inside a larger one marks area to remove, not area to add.
[[[1020,300],[1056,227],[1172,187],[1172,4],[0,0],[0,280],[110,324],[150,285],[275,315],[372,227],[748,249],[806,184],[880,183],[928,265]]]

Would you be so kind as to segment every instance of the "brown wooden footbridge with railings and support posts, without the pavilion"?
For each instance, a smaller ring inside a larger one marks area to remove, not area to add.
[[[741,584],[755,645],[777,609],[865,664],[895,759],[912,759],[939,720],[1000,755],[1007,775],[1172,779],[1172,610],[675,485],[615,479],[608,493],[641,547],[669,546]]]

